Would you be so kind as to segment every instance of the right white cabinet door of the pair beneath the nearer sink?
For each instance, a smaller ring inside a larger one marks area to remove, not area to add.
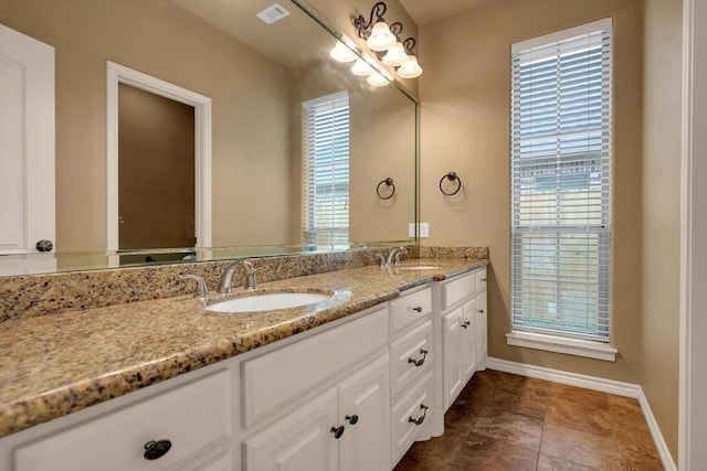
[[[339,385],[341,471],[390,470],[390,381],[388,355]]]

